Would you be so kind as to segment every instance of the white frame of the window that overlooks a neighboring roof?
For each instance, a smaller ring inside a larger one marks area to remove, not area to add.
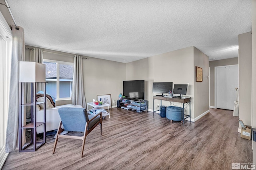
[[[56,60],[49,60],[49,59],[43,59],[43,62],[49,62],[49,63],[56,63],[57,66],[57,77],[56,77],[56,101],[60,100],[71,100],[71,94],[70,98],[60,98],[60,67],[59,64],[67,64],[67,65],[72,65],[74,69],[74,63],[70,62],[65,62],[65,61],[56,61]],[[72,80],[73,82],[73,80]],[[71,83],[71,82],[70,82]],[[71,89],[72,90],[72,89]],[[70,90],[70,91],[71,91]]]

